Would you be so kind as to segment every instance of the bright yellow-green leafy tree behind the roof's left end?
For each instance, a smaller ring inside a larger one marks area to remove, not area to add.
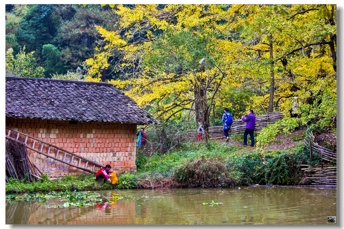
[[[5,76],[44,78],[44,68],[37,66],[34,52],[25,54],[24,50],[25,46],[15,57],[12,48],[7,50]]]

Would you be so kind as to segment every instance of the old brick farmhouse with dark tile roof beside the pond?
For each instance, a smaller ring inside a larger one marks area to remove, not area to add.
[[[110,164],[117,173],[136,172],[137,125],[159,124],[110,83],[6,77],[6,133],[12,129],[51,144],[28,156],[52,178],[85,171],[37,152],[57,156],[51,146]]]

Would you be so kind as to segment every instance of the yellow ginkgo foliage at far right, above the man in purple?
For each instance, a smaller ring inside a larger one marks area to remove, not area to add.
[[[246,5],[239,11],[249,15],[245,18],[247,23],[241,22],[240,26],[244,27],[241,38],[250,59],[241,62],[239,68],[251,69],[249,84],[258,83],[263,92],[255,103],[269,104],[269,112],[276,109],[286,115],[281,122],[263,130],[258,142],[269,139],[264,131],[273,132],[280,127],[288,131],[315,119],[320,119],[318,128],[335,132],[335,5]],[[269,103],[261,102],[267,100]],[[300,119],[289,116],[294,101],[298,103]]]

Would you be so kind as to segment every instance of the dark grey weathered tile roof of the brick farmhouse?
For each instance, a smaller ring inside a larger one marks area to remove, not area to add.
[[[110,83],[6,77],[6,116],[160,125]]]

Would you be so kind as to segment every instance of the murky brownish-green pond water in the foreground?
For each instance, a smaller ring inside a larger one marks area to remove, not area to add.
[[[336,188],[247,187],[97,191],[92,206],[6,201],[6,224],[327,224]],[[111,196],[124,197],[106,204]],[[222,204],[203,204],[203,203]]]

